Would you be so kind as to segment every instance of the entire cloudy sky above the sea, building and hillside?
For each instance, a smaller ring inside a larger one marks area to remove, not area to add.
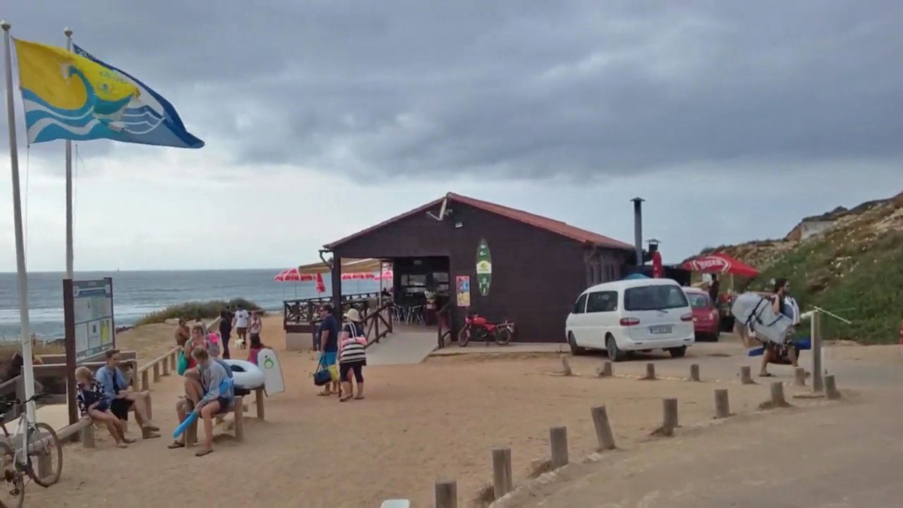
[[[639,195],[678,261],[903,190],[899,2],[261,4],[6,3],[207,143],[79,143],[77,269],[289,267],[448,191],[628,242]],[[61,270],[63,143],[27,148],[16,101],[28,266]]]

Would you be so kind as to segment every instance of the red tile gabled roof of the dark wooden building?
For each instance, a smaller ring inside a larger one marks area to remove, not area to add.
[[[529,224],[535,228],[539,228],[541,230],[547,230],[549,232],[561,235],[566,238],[570,238],[572,240],[579,241],[581,243],[587,243],[591,245],[597,245],[599,247],[608,247],[610,249],[624,249],[624,250],[633,250],[635,247],[630,245],[629,243],[625,243],[623,241],[614,240],[607,236],[600,235],[598,233],[594,233],[588,230],[582,230],[575,226],[572,226],[563,221],[555,221],[554,219],[549,219],[548,217],[543,217],[541,215],[536,215],[535,213],[524,212],[523,210],[517,210],[515,208],[509,208],[507,206],[502,206],[500,204],[496,204],[494,202],[485,202],[478,199],[469,198],[467,196],[462,196],[461,194],[456,193],[448,193],[444,198],[437,199],[432,202],[428,202],[423,206],[415,208],[410,212],[402,213],[401,215],[397,215],[387,221],[383,221],[378,223],[375,226],[371,226],[366,230],[360,230],[357,233],[354,233],[350,236],[347,236],[341,240],[333,241],[327,245],[324,245],[326,249],[333,249],[342,243],[345,243],[349,240],[356,239],[360,236],[367,234],[370,231],[378,230],[383,228],[389,224],[392,224],[397,221],[401,221],[407,217],[410,217],[416,213],[423,213],[436,205],[442,203],[443,199],[449,199],[453,202],[461,202],[463,204],[470,205],[474,208],[479,208],[480,210],[484,210],[486,212],[495,213],[497,215],[501,215],[502,217],[506,217],[507,219],[511,219],[512,221],[523,222],[525,224]]]

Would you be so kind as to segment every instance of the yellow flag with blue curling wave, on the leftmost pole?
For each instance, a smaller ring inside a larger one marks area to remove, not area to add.
[[[131,81],[95,61],[54,46],[14,41],[32,143],[108,137],[139,95]]]

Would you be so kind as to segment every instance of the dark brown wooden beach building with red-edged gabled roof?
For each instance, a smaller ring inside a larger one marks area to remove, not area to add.
[[[628,243],[454,193],[324,248],[333,267],[349,258],[391,262],[399,306],[416,309],[433,294],[438,307],[451,303],[452,337],[470,311],[513,321],[520,342],[564,342],[574,299],[621,278],[636,260]],[[331,277],[340,287],[340,269]]]

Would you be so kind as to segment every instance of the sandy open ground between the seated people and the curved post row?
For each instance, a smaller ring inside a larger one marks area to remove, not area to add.
[[[278,321],[267,318],[265,336],[281,336],[273,332]],[[170,344],[157,344],[152,329],[162,333],[163,325],[122,334],[120,345],[125,349],[134,340],[148,357],[158,346],[165,351]],[[282,347],[281,341],[269,342]],[[572,460],[590,454],[594,405],[607,405],[619,447],[629,449],[660,424],[662,397],[678,398],[684,427],[712,419],[712,389],[718,386],[731,389],[737,413],[755,411],[768,397],[766,385],[732,380],[597,379],[599,357],[573,358],[581,375],[563,377],[554,374],[561,366],[557,354],[466,354],[368,367],[367,399],[340,403],[315,396],[312,353],[279,355],[287,391],[266,401],[266,421],[246,419],[245,443],[219,437],[216,452],[200,458],[167,449],[166,436],[176,424],[172,404],[181,392],[180,380],[170,376],[153,390],[154,417],[164,437],[123,450],[98,431],[97,448],[66,447],[60,484],[30,489],[28,502],[364,507],[401,497],[428,506],[440,477],[457,479],[461,500],[472,499],[480,484],[491,481],[493,447],[512,448],[515,483],[523,483],[530,461],[548,456],[552,426],[568,427]],[[618,364],[622,375],[639,376],[644,369],[645,362]],[[787,390],[789,397],[794,389]],[[253,414],[252,406],[247,415]]]

